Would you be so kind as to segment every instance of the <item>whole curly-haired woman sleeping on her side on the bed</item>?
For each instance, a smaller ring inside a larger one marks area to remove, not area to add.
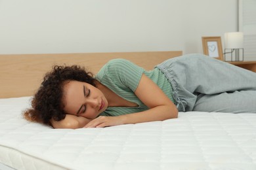
[[[177,118],[178,112],[256,112],[256,73],[202,54],[167,59],[145,71],[112,59],[93,76],[54,66],[24,117],[77,129]]]

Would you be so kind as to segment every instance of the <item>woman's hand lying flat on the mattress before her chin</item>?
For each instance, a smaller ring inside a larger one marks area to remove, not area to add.
[[[99,116],[86,124],[85,128],[117,126],[121,124],[125,124],[125,116]]]

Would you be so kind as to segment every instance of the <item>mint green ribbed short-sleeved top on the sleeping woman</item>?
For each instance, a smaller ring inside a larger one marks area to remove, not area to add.
[[[142,67],[126,59],[112,59],[100,69],[95,76],[96,80],[123,97],[123,99],[137,103],[138,107],[108,107],[100,116],[119,116],[148,109],[134,93],[139,85],[142,73],[158,84],[169,99],[174,101],[171,84],[160,69],[155,68],[151,71],[145,71]]]

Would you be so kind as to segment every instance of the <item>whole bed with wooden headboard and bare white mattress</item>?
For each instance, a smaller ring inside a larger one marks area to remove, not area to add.
[[[53,64],[111,58],[151,69],[177,52],[0,55],[0,169],[256,169],[256,114],[179,112],[179,118],[90,129],[53,129],[22,110]]]

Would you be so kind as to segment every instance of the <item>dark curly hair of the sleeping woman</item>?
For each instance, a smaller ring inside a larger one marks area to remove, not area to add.
[[[24,118],[51,126],[50,120],[60,121],[66,116],[62,103],[64,82],[77,80],[95,86],[95,78],[85,67],[79,65],[54,65],[53,70],[43,78],[41,86],[32,99],[32,108],[23,112]]]

